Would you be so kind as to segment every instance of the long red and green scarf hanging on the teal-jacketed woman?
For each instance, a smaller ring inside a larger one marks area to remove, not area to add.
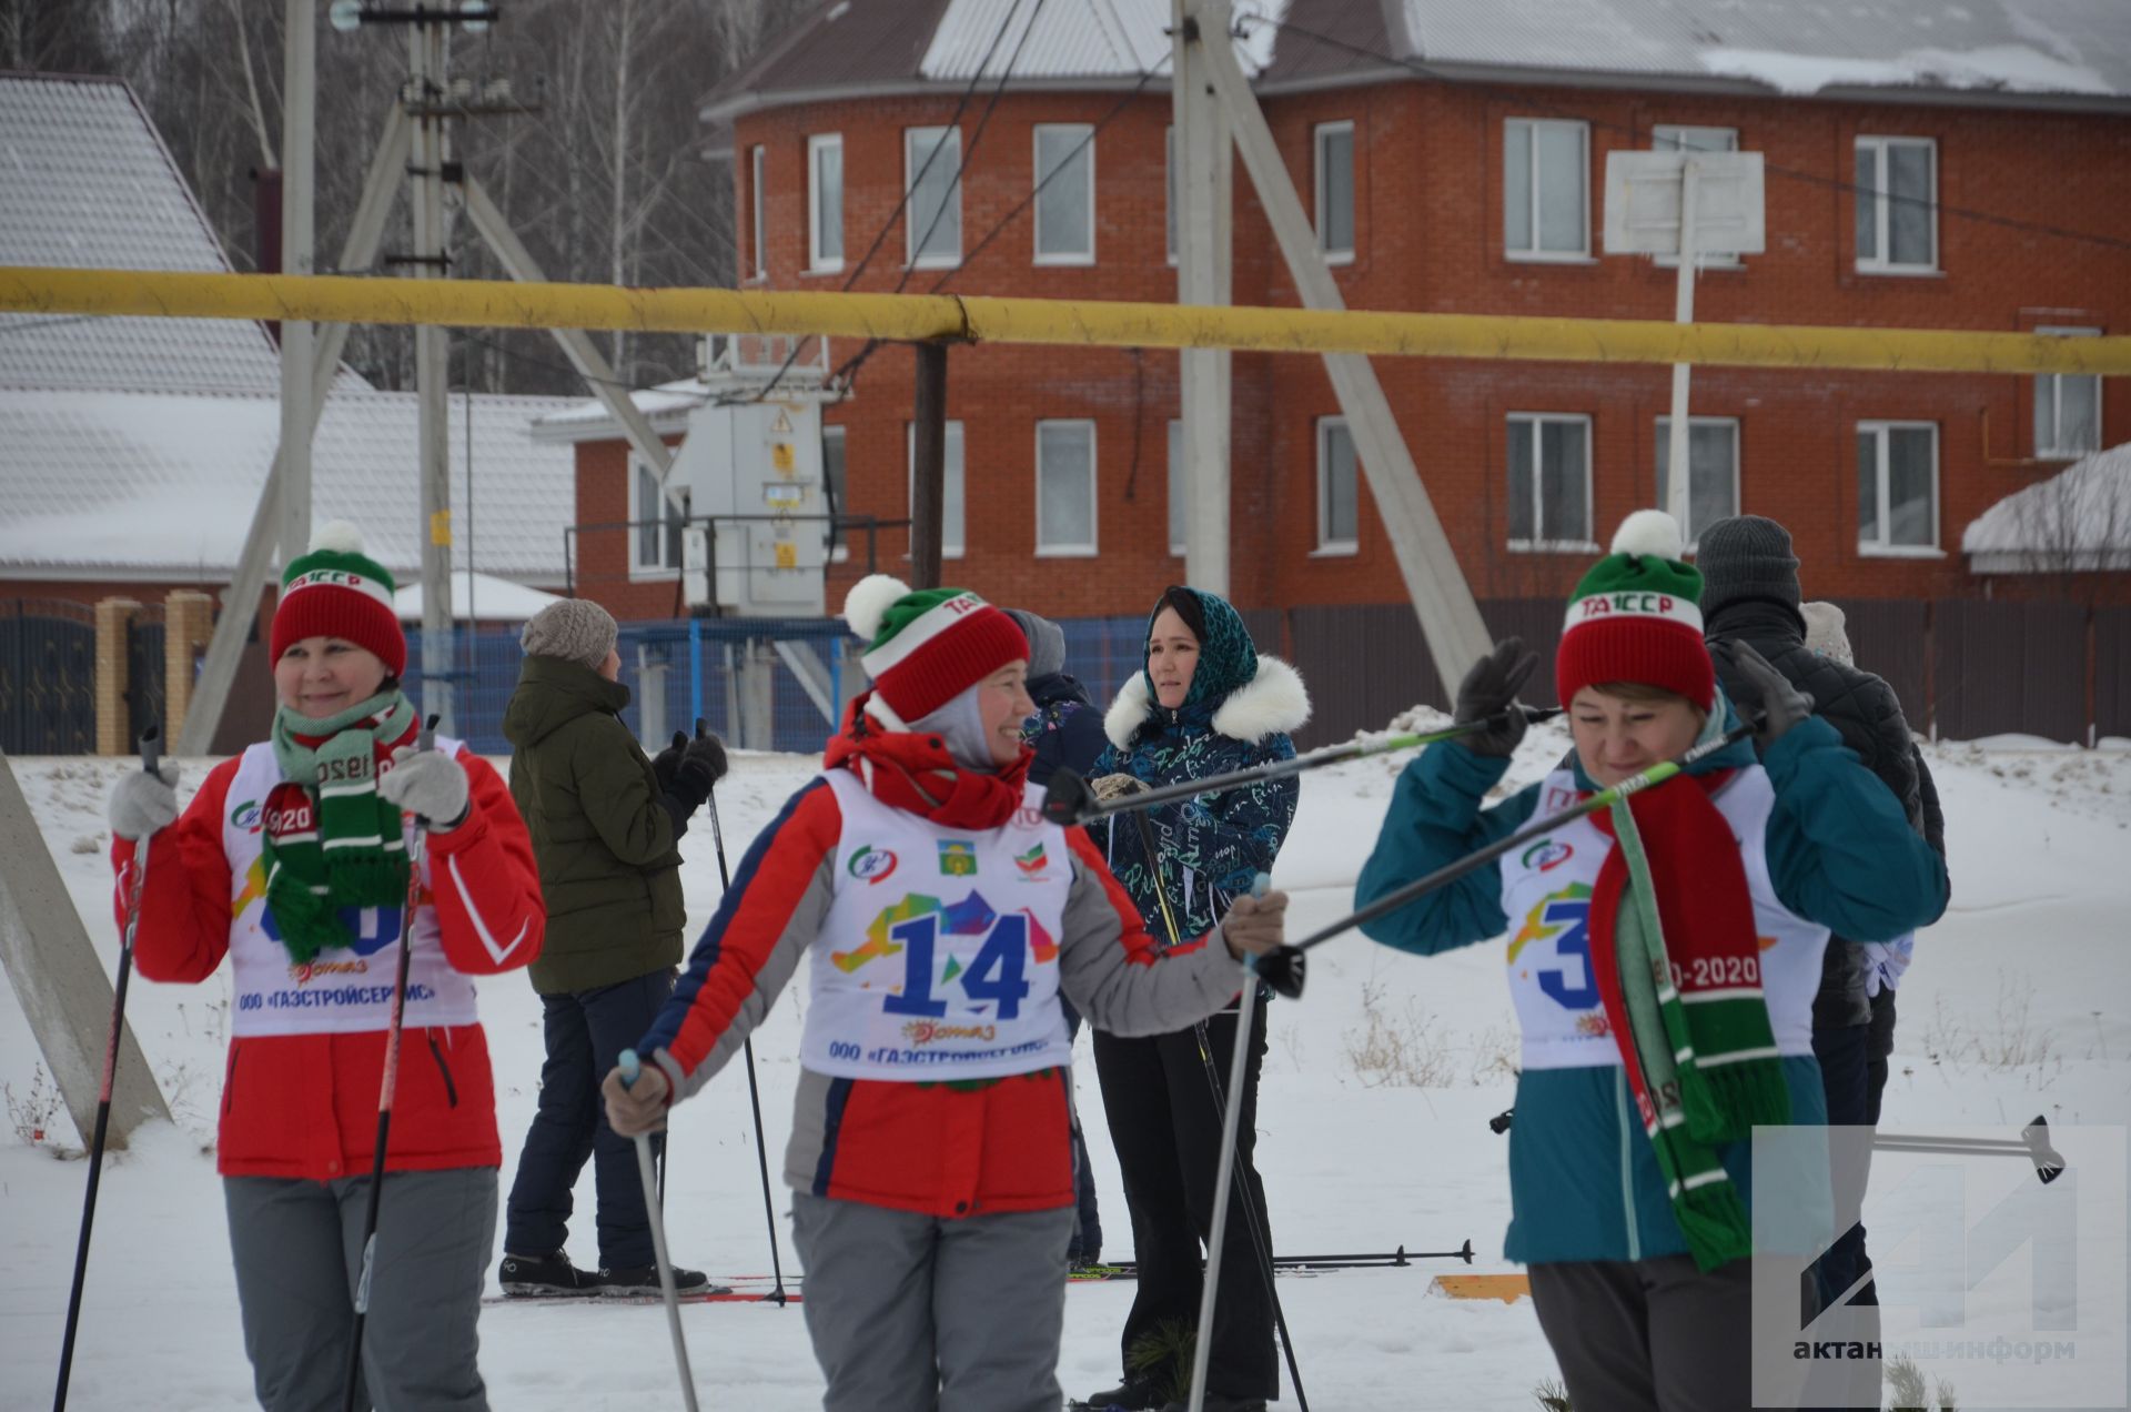
[[[1681,776],[1594,819],[1617,847],[1592,892],[1592,968],[1701,1269],[1752,1254],[1718,1145],[1790,1122],[1745,866],[1707,798],[1726,776]]]

